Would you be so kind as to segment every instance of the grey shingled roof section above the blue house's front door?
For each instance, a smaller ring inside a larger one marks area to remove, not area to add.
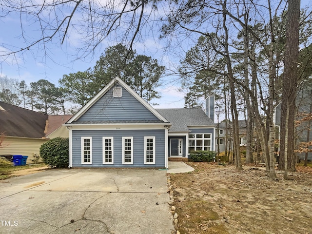
[[[194,109],[156,109],[168,119],[172,126],[170,131],[190,131],[189,126],[214,126],[214,121],[200,108]]]

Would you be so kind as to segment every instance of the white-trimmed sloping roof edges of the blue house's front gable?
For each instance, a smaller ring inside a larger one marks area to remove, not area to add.
[[[160,122],[169,123],[166,118],[161,116],[150,104],[148,104],[143,98],[141,98],[134,90],[132,90],[125,82],[123,82],[120,78],[114,78],[112,79],[94,98],[92,98],[85,106],[83,106],[72,118],[70,118],[67,121],[67,125],[71,123],[75,123],[80,117],[82,117],[96,102],[102,98],[108,91],[110,91],[114,85],[119,84],[121,85],[125,90],[127,90],[134,98],[137,99],[139,103],[141,103],[147,110],[149,110],[157,119],[159,119]],[[117,121],[122,122],[122,120]],[[125,123],[130,123],[132,121],[126,121]],[[85,123],[114,123],[114,121],[79,121],[80,124]]]

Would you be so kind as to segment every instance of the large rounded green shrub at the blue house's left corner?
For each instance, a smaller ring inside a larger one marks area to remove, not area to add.
[[[53,138],[40,147],[40,156],[50,167],[65,168],[69,165],[69,138]]]

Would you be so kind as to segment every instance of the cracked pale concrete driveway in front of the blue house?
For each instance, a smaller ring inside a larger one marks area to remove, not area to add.
[[[170,234],[166,171],[54,169],[0,181],[0,234]]]

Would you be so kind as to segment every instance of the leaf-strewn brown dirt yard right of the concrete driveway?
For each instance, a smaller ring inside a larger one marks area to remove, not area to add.
[[[271,180],[264,167],[189,162],[170,174],[181,234],[311,234],[312,168]]]

